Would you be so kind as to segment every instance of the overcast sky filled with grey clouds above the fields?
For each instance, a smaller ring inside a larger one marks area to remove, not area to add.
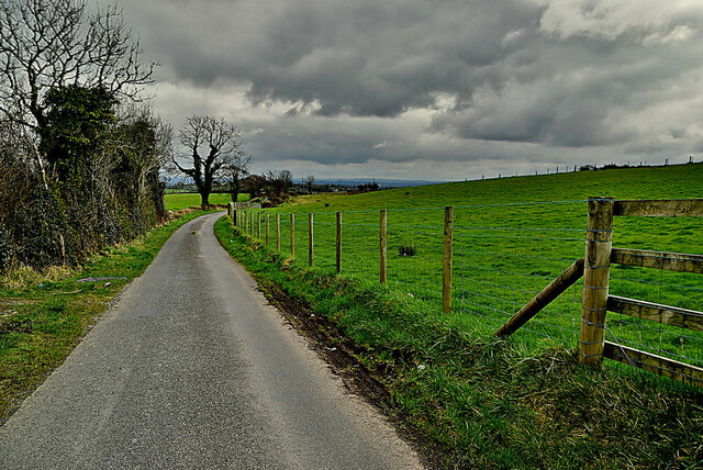
[[[255,171],[458,180],[703,158],[701,0],[121,0],[157,112]]]

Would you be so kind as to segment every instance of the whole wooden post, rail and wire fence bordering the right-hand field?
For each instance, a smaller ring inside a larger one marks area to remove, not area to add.
[[[589,205],[584,228],[525,226],[520,214],[514,216],[514,211],[535,206],[582,208],[584,202]],[[661,299],[662,289],[667,289],[679,292],[683,304],[700,302],[703,292],[700,278],[676,281],[670,276],[701,273],[703,255],[613,248],[613,215],[601,213],[602,208],[629,217],[690,217],[703,213],[701,200],[611,198],[321,211],[308,213],[306,217],[303,212],[276,212],[275,246],[270,233],[274,213],[234,204],[228,208],[228,215],[239,231],[261,239],[269,249],[291,258],[295,258],[297,250],[306,250],[308,265],[316,270],[392,286],[483,328],[489,322],[494,327],[503,325],[499,332],[512,325],[507,329],[513,333],[516,329],[513,326],[518,325],[517,328],[522,326],[565,344],[578,338],[579,358],[584,363],[599,363],[607,357],[703,384],[703,371],[699,368],[703,366],[703,313],[650,299],[609,295],[607,289],[607,279],[612,278],[614,286],[625,291],[639,289],[651,293],[658,289]],[[490,216],[481,212],[493,210],[504,219],[502,223],[493,220],[494,212]],[[410,220],[404,215],[409,213],[413,213]],[[498,223],[481,223],[481,217],[483,222]],[[576,261],[584,257],[584,243],[585,261],[578,268]],[[621,265],[671,275],[654,279],[640,273],[637,279],[632,271],[621,269]],[[582,277],[578,269],[582,269]],[[674,294],[667,292],[667,295]],[[700,309],[698,303],[693,306]],[[612,318],[610,326],[605,323],[606,312]],[[532,316],[511,324],[516,313]],[[652,320],[658,326],[650,324]]]

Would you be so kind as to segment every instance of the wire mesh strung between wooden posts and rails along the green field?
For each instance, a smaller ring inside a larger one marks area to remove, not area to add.
[[[584,256],[587,201],[481,204],[454,208],[451,313],[447,321],[481,335],[494,333],[573,261]],[[258,212],[249,234],[258,236]],[[269,247],[309,264],[310,215],[268,212]],[[280,223],[277,221],[277,215]],[[378,210],[341,215],[341,273],[380,278]],[[444,208],[388,210],[387,284],[442,315]],[[245,217],[242,217],[244,221]],[[264,219],[263,219],[264,220]],[[241,221],[241,222],[242,222]],[[293,228],[291,231],[291,221]],[[614,246],[703,254],[703,221],[618,222]],[[261,232],[264,233],[264,231]],[[291,233],[293,250],[291,251]],[[336,271],[337,213],[312,215],[313,269]],[[264,237],[264,235],[261,235]],[[703,310],[703,277],[632,266],[611,268],[610,292],[665,305]],[[581,327],[579,281],[517,334],[528,346],[573,347]],[[703,332],[609,313],[606,340],[703,367]]]

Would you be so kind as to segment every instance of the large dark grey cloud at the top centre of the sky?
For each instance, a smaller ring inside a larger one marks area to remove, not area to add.
[[[470,98],[502,80],[490,67],[511,53],[510,31],[534,25],[540,9],[514,1],[169,2],[149,43],[169,52],[177,79],[252,85],[255,102],[319,104],[317,113],[393,116]],[[141,7],[148,9],[149,7]],[[163,26],[159,25],[163,24]],[[165,27],[164,27],[165,26]]]

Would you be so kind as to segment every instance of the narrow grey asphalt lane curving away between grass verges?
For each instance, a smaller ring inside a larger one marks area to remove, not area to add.
[[[213,234],[169,239],[0,427],[0,468],[411,469]]]

